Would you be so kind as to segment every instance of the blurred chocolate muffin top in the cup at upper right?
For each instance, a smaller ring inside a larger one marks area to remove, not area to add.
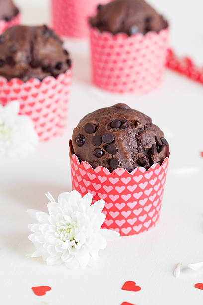
[[[97,15],[91,17],[92,27],[112,34],[146,34],[159,32],[168,27],[167,21],[144,0],[115,0],[106,5],[98,5]]]

